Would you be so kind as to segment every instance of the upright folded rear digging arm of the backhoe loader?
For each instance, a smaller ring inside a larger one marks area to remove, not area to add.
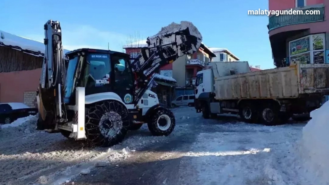
[[[65,58],[62,46],[62,30],[58,21],[49,20],[44,25],[45,53],[37,91],[38,110],[42,120],[64,123],[66,110],[63,103]]]

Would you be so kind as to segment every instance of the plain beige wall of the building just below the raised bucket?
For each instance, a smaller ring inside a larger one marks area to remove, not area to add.
[[[179,86],[186,85],[186,61],[187,56],[184,55],[172,63],[172,78],[177,81],[177,85]]]

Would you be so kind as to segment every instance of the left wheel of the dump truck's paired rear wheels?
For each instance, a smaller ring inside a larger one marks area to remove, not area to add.
[[[243,122],[256,123],[258,119],[257,109],[251,103],[242,103],[239,108],[239,115]]]

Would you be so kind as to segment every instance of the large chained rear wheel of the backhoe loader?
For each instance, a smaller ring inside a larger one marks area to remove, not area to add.
[[[86,114],[87,140],[96,146],[110,147],[121,142],[128,126],[128,109],[115,100],[97,102]]]

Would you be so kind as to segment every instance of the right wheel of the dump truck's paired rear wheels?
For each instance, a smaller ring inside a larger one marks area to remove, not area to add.
[[[281,120],[279,119],[279,106],[274,106],[271,104],[263,106],[260,109],[260,120],[266,126],[280,125]]]

